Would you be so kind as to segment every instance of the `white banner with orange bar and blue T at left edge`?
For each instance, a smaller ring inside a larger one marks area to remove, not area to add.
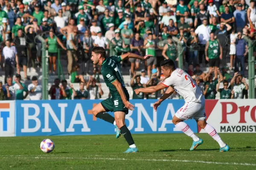
[[[1,136],[15,136],[15,101],[0,101]]]

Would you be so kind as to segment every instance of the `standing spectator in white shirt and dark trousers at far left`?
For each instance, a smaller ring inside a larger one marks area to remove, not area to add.
[[[15,46],[11,46],[9,40],[6,41],[6,46],[3,48],[2,56],[4,56],[5,63],[5,78],[4,82],[6,83],[6,79],[8,76],[13,76],[14,68],[15,68],[15,60],[18,63],[18,55]],[[19,67],[19,65],[17,65]]]

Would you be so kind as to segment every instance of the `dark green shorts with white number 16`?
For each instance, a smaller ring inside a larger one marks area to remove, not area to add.
[[[129,101],[129,94],[128,92],[125,92],[126,99]],[[125,112],[125,114],[128,114],[128,109],[125,107],[124,103],[122,102],[121,96],[119,95],[118,92],[112,94],[111,97],[108,99],[105,99],[101,102],[103,108],[105,111],[111,111],[111,112],[116,112],[116,111],[122,111]]]

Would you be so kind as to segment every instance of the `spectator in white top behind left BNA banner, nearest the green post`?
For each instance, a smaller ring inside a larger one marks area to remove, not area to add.
[[[38,85],[37,77],[32,77],[32,83],[28,86],[29,100],[41,100],[42,99],[42,86]]]

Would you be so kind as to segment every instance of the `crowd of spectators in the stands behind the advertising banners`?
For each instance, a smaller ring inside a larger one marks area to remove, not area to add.
[[[5,80],[0,82],[0,99],[28,95],[31,100],[41,99],[37,77],[27,76],[27,69],[41,67],[38,35],[47,42],[49,75],[55,75],[61,53],[67,58],[70,82],[80,87],[75,90],[67,80],[55,79],[49,90],[51,99],[99,99],[103,95],[100,68],[90,60],[93,46],[104,47],[108,56],[126,52],[154,56],[145,63],[122,61],[122,69],[130,70],[133,89],[163,81],[160,62],[172,59],[178,66],[181,54],[183,69],[200,85],[206,99],[215,99],[217,91],[221,99],[247,98],[245,63],[248,50],[256,51],[256,45],[248,46],[244,37],[255,42],[255,32],[254,0],[3,0],[0,66]],[[140,65],[145,69],[139,70]],[[202,67],[209,67],[208,73]],[[86,81],[84,75],[91,75],[90,79]],[[26,88],[21,79],[31,79],[32,84]],[[134,94],[133,98],[155,99],[160,94],[163,91]]]

